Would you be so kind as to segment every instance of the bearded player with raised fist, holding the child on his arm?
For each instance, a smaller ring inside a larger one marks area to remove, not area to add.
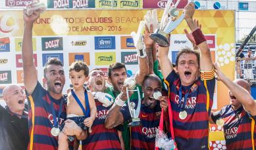
[[[39,18],[41,10],[34,10],[28,16],[24,10],[24,35],[22,40],[22,63],[24,85],[28,95],[28,126],[30,143],[28,149],[58,149],[59,126],[66,119],[66,103],[63,86],[64,69],[61,60],[51,58],[45,64],[43,77],[47,81],[47,90],[38,82],[38,72],[34,65],[32,47],[32,28]],[[78,140],[86,138],[86,132],[74,121],[65,121],[63,128],[67,136],[76,136]]]

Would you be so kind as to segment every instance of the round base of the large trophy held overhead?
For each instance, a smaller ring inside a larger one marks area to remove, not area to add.
[[[168,33],[165,33],[161,29],[157,29],[154,33],[151,33],[149,37],[158,43],[161,47],[168,47],[169,46],[169,35]]]

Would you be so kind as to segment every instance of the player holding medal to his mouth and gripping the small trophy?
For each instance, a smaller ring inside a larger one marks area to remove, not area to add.
[[[117,96],[115,103],[107,114],[105,121],[106,128],[115,128],[119,124],[131,119],[131,115],[128,110],[128,104],[124,103],[127,100],[126,87],[124,85],[122,92]],[[141,126],[132,126],[130,128],[130,144],[131,149],[155,149],[155,135],[159,126],[159,119],[161,114],[161,107],[159,100],[153,98],[154,92],[161,92],[161,79],[157,75],[147,75],[142,84],[142,92],[144,97],[141,100],[140,109],[140,121]],[[161,100],[165,99],[164,96]],[[138,109],[138,99],[132,99],[130,102],[136,104],[135,109]],[[167,109],[167,103],[165,103],[164,109]]]

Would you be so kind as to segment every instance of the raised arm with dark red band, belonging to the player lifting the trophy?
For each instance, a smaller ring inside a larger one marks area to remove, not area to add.
[[[207,41],[201,32],[201,29],[197,27],[193,22],[193,14],[195,12],[194,3],[188,3],[184,8],[185,20],[192,31],[195,44],[200,50],[200,69],[202,71],[211,71],[213,69],[213,61],[211,60],[211,51],[207,45]]]

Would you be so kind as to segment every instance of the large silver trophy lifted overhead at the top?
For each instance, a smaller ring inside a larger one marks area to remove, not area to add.
[[[193,0],[190,0],[193,2]],[[163,13],[160,27],[156,29],[154,33],[150,35],[151,39],[156,43],[159,43],[162,47],[168,47],[170,45],[168,39],[170,38],[170,32],[173,31],[184,20],[184,14],[177,18],[179,12],[176,7],[180,3],[180,0],[176,3],[172,3],[172,0],[168,0],[165,5],[165,11]]]

